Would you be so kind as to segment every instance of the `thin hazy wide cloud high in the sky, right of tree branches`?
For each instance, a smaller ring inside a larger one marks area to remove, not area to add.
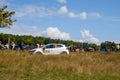
[[[16,10],[16,17],[47,17],[47,16],[53,16],[56,12],[53,8],[47,9],[45,7],[41,6],[24,6]]]

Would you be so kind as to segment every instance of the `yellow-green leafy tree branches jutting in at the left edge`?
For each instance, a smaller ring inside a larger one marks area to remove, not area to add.
[[[7,5],[0,8],[0,28],[10,27],[16,21],[11,18],[15,12],[6,11],[6,9]]]

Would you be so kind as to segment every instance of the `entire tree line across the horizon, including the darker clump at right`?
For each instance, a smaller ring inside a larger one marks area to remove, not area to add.
[[[73,40],[61,40],[61,39],[52,39],[40,36],[32,36],[32,35],[13,35],[13,34],[4,34],[0,33],[0,41],[3,44],[10,44],[11,42],[15,42],[16,45],[19,45],[23,42],[26,45],[34,46],[37,43],[39,44],[49,44],[49,43],[59,43],[65,44],[67,47],[79,47],[79,48],[94,48],[95,51],[103,50],[103,51],[116,51],[120,49],[120,43],[115,43],[111,41],[102,42],[100,45],[94,43],[87,43],[87,42],[76,42]]]

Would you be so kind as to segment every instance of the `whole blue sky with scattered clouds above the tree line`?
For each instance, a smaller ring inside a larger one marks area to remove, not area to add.
[[[120,42],[120,0],[0,0],[17,22],[0,32],[100,44]]]

